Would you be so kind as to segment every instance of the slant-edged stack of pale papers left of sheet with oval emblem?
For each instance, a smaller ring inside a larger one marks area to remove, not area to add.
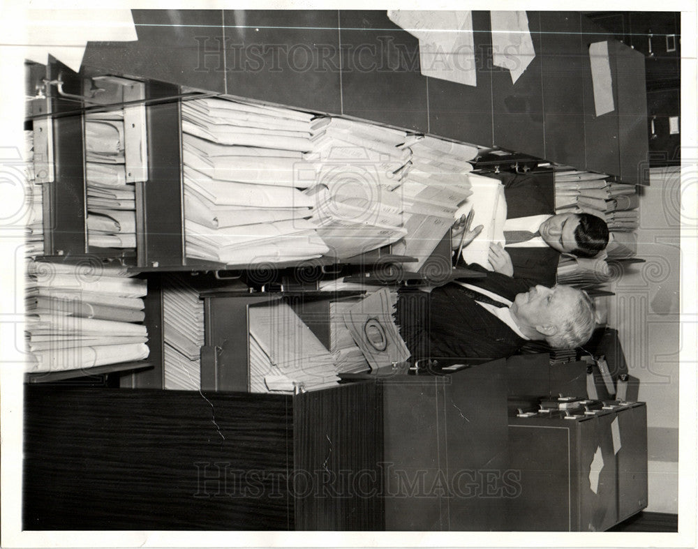
[[[334,358],[287,303],[249,308],[250,390],[291,392],[335,386]]]

